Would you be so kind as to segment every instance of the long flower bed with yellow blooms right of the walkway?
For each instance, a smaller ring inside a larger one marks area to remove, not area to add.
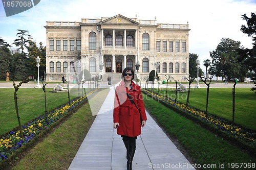
[[[193,120],[201,126],[207,128],[211,132],[222,136],[223,138],[238,144],[241,148],[246,149],[251,154],[256,153],[256,133],[253,130],[248,130],[239,125],[232,125],[232,123],[222,117],[205,113],[199,109],[177,102],[170,98],[165,98],[163,95],[152,92],[150,90],[141,89],[143,93],[151,96],[161,104],[169,107],[175,112]]]

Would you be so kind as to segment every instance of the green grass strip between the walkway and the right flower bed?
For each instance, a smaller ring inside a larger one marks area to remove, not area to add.
[[[143,94],[145,96],[145,94]],[[205,169],[234,169],[228,168],[228,163],[243,162],[254,163],[255,158],[240,148],[230,144],[218,135],[202,128],[182,115],[168,109],[155,100],[144,100],[146,110],[155,118],[156,122],[171,136],[172,140],[178,141],[191,160],[197,164],[216,164],[217,168]],[[220,164],[225,168],[220,168]],[[202,168],[203,169],[203,168]],[[238,168],[248,169],[248,168]]]

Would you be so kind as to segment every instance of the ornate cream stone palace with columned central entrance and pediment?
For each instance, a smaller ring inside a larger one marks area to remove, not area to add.
[[[188,72],[188,23],[157,23],[122,15],[80,22],[47,21],[46,80],[72,81],[83,69],[92,77],[120,77],[123,68],[136,70],[143,80],[156,70],[184,80]],[[113,79],[112,79],[113,80]]]

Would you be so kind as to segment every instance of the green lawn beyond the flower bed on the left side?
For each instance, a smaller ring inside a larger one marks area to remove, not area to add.
[[[62,104],[68,103],[68,92],[50,92],[46,89],[47,111]],[[72,89],[75,93],[75,89]],[[78,93],[78,90],[76,91]],[[83,92],[84,93],[84,92]],[[82,91],[80,89],[80,96]],[[27,123],[38,115],[45,113],[45,93],[42,89],[19,88],[17,91],[18,112],[20,122]],[[76,98],[70,95],[70,100]],[[0,88],[0,135],[18,126],[17,114],[14,105],[14,88]]]

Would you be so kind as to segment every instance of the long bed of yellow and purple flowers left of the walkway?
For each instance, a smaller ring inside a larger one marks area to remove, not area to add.
[[[80,106],[88,101],[88,97],[97,89],[90,91],[86,96],[77,98],[46,114],[37,116],[34,120],[22,126],[24,137],[20,137],[18,128],[5,133],[0,138],[0,169],[13,160],[18,153],[33,145],[38,138],[44,136],[57,126],[64,117],[71,115]]]

